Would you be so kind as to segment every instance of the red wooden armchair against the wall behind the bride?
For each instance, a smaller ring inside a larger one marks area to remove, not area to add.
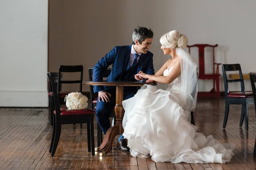
[[[198,47],[199,51],[199,76],[198,79],[213,79],[213,89],[210,92],[198,92],[198,97],[219,97],[219,65],[221,63],[215,63],[214,58],[214,48],[217,47],[216,45],[209,45],[209,44],[194,44],[194,45],[188,45],[189,53],[191,47]],[[213,48],[213,73],[206,74],[205,73],[205,47],[212,47]],[[216,90],[215,90],[216,85]]]

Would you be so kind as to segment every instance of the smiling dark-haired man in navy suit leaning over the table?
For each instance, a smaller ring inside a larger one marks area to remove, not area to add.
[[[127,46],[115,46],[113,50],[101,58],[93,68],[93,80],[102,80],[102,73],[112,64],[112,71],[107,80],[136,81],[143,79],[134,75],[143,71],[146,74],[154,74],[153,54],[149,52],[153,39],[151,29],[137,27],[133,32],[133,44]],[[96,117],[104,134],[111,127],[109,114],[115,106],[114,86],[94,86],[94,92],[98,92]],[[129,99],[137,92],[137,87],[124,87],[123,100]],[[117,148],[129,151],[127,142],[120,135]]]

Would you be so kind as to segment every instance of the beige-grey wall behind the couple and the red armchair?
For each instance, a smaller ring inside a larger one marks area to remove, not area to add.
[[[83,79],[87,80],[87,68],[93,67],[115,45],[130,45],[133,29],[139,25],[154,31],[150,51],[154,54],[155,70],[170,58],[163,55],[159,38],[176,29],[187,35],[190,45],[219,44],[216,62],[240,63],[243,73],[249,73],[256,70],[255,6],[253,0],[50,1],[49,70],[57,72],[59,65],[82,64]],[[191,53],[197,60],[196,50]],[[209,60],[206,66],[210,72]],[[245,83],[246,90],[250,90],[249,81]],[[199,81],[199,90],[210,90],[211,84]],[[231,90],[239,90],[239,86],[231,86]],[[83,91],[89,88],[84,87]]]

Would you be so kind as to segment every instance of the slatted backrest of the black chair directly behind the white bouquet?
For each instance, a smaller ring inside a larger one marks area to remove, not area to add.
[[[62,73],[75,73],[80,72],[80,80],[61,80]],[[59,76],[58,76],[58,95],[61,89],[62,84],[72,84],[72,83],[80,83],[79,84],[79,92],[82,92],[82,82],[83,82],[83,66],[75,65],[75,66],[59,66]]]

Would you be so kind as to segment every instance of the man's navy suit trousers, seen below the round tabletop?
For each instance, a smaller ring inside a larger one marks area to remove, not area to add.
[[[106,90],[106,92],[109,92],[111,94],[111,97],[109,98],[110,101],[99,101],[99,96],[97,98],[97,106],[96,106],[96,118],[99,126],[102,129],[102,132],[106,134],[107,130],[111,127],[109,115],[111,110],[115,107],[116,102],[116,90],[115,88],[110,88],[109,90]],[[130,90],[129,88],[124,88],[123,90],[123,100],[130,99],[134,96],[134,90]]]

